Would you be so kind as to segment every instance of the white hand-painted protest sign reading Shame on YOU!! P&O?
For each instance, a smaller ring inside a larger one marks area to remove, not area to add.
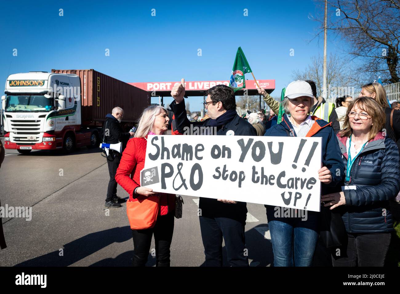
[[[149,135],[140,179],[154,192],[320,211],[320,168],[318,137]]]

